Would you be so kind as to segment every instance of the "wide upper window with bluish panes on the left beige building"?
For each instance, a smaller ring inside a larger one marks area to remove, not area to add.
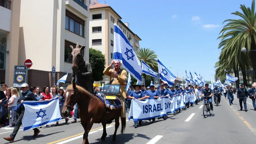
[[[66,15],[65,28],[84,37],[84,25]]]

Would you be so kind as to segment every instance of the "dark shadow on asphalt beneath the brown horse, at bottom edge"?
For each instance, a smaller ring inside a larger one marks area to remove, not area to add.
[[[101,138],[96,139],[96,141],[98,142],[94,142],[91,144],[125,144],[126,142],[130,141],[131,139],[133,139],[134,137],[141,137],[141,138],[145,138],[145,139],[150,139],[148,136],[143,135],[143,134],[134,134],[134,133],[123,133],[123,134],[119,134],[116,135],[116,141],[112,141],[112,137],[113,135],[108,136],[107,138],[105,138],[105,141],[101,141]]]

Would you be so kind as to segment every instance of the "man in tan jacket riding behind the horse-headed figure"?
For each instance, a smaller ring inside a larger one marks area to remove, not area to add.
[[[114,69],[110,69],[111,66],[114,65]],[[127,72],[125,70],[120,69],[121,63],[112,61],[111,64],[105,68],[103,73],[110,77],[109,84],[120,84],[120,97],[122,99],[122,113],[121,117],[125,117],[125,82],[127,80]]]

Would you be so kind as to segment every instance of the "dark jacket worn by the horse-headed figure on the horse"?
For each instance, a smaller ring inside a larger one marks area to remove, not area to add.
[[[93,72],[91,71],[91,65],[84,59],[84,63],[79,66],[79,72],[76,74],[76,84],[78,86],[83,87],[85,90],[89,91],[90,93],[93,93],[93,81],[92,81],[92,76]],[[75,78],[75,73],[72,72],[72,82],[74,81]]]

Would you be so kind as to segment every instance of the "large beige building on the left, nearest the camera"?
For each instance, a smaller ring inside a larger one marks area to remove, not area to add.
[[[19,3],[19,10],[12,9],[14,7],[13,1],[14,3]],[[18,21],[15,18],[16,21],[14,23],[11,21],[11,26],[12,23],[18,26],[10,28],[7,33],[16,33],[14,38],[17,41],[15,41],[16,47],[14,49],[9,49],[7,41],[8,52],[6,52],[6,61],[3,62],[5,68],[1,67],[2,71],[0,71],[2,83],[12,86],[14,66],[24,65],[24,61],[30,59],[33,62],[28,71],[28,84],[30,86],[53,86],[53,66],[56,71],[55,83],[63,75],[70,73],[65,84],[68,85],[71,82],[72,73],[72,49],[70,45],[75,47],[76,42],[79,42],[79,45],[86,46],[84,57],[89,60],[88,31],[90,9],[88,6],[90,1],[13,1],[11,1],[10,9],[12,11],[17,10],[18,14],[11,14],[12,17],[18,17]],[[10,18],[13,19],[12,17]]]

